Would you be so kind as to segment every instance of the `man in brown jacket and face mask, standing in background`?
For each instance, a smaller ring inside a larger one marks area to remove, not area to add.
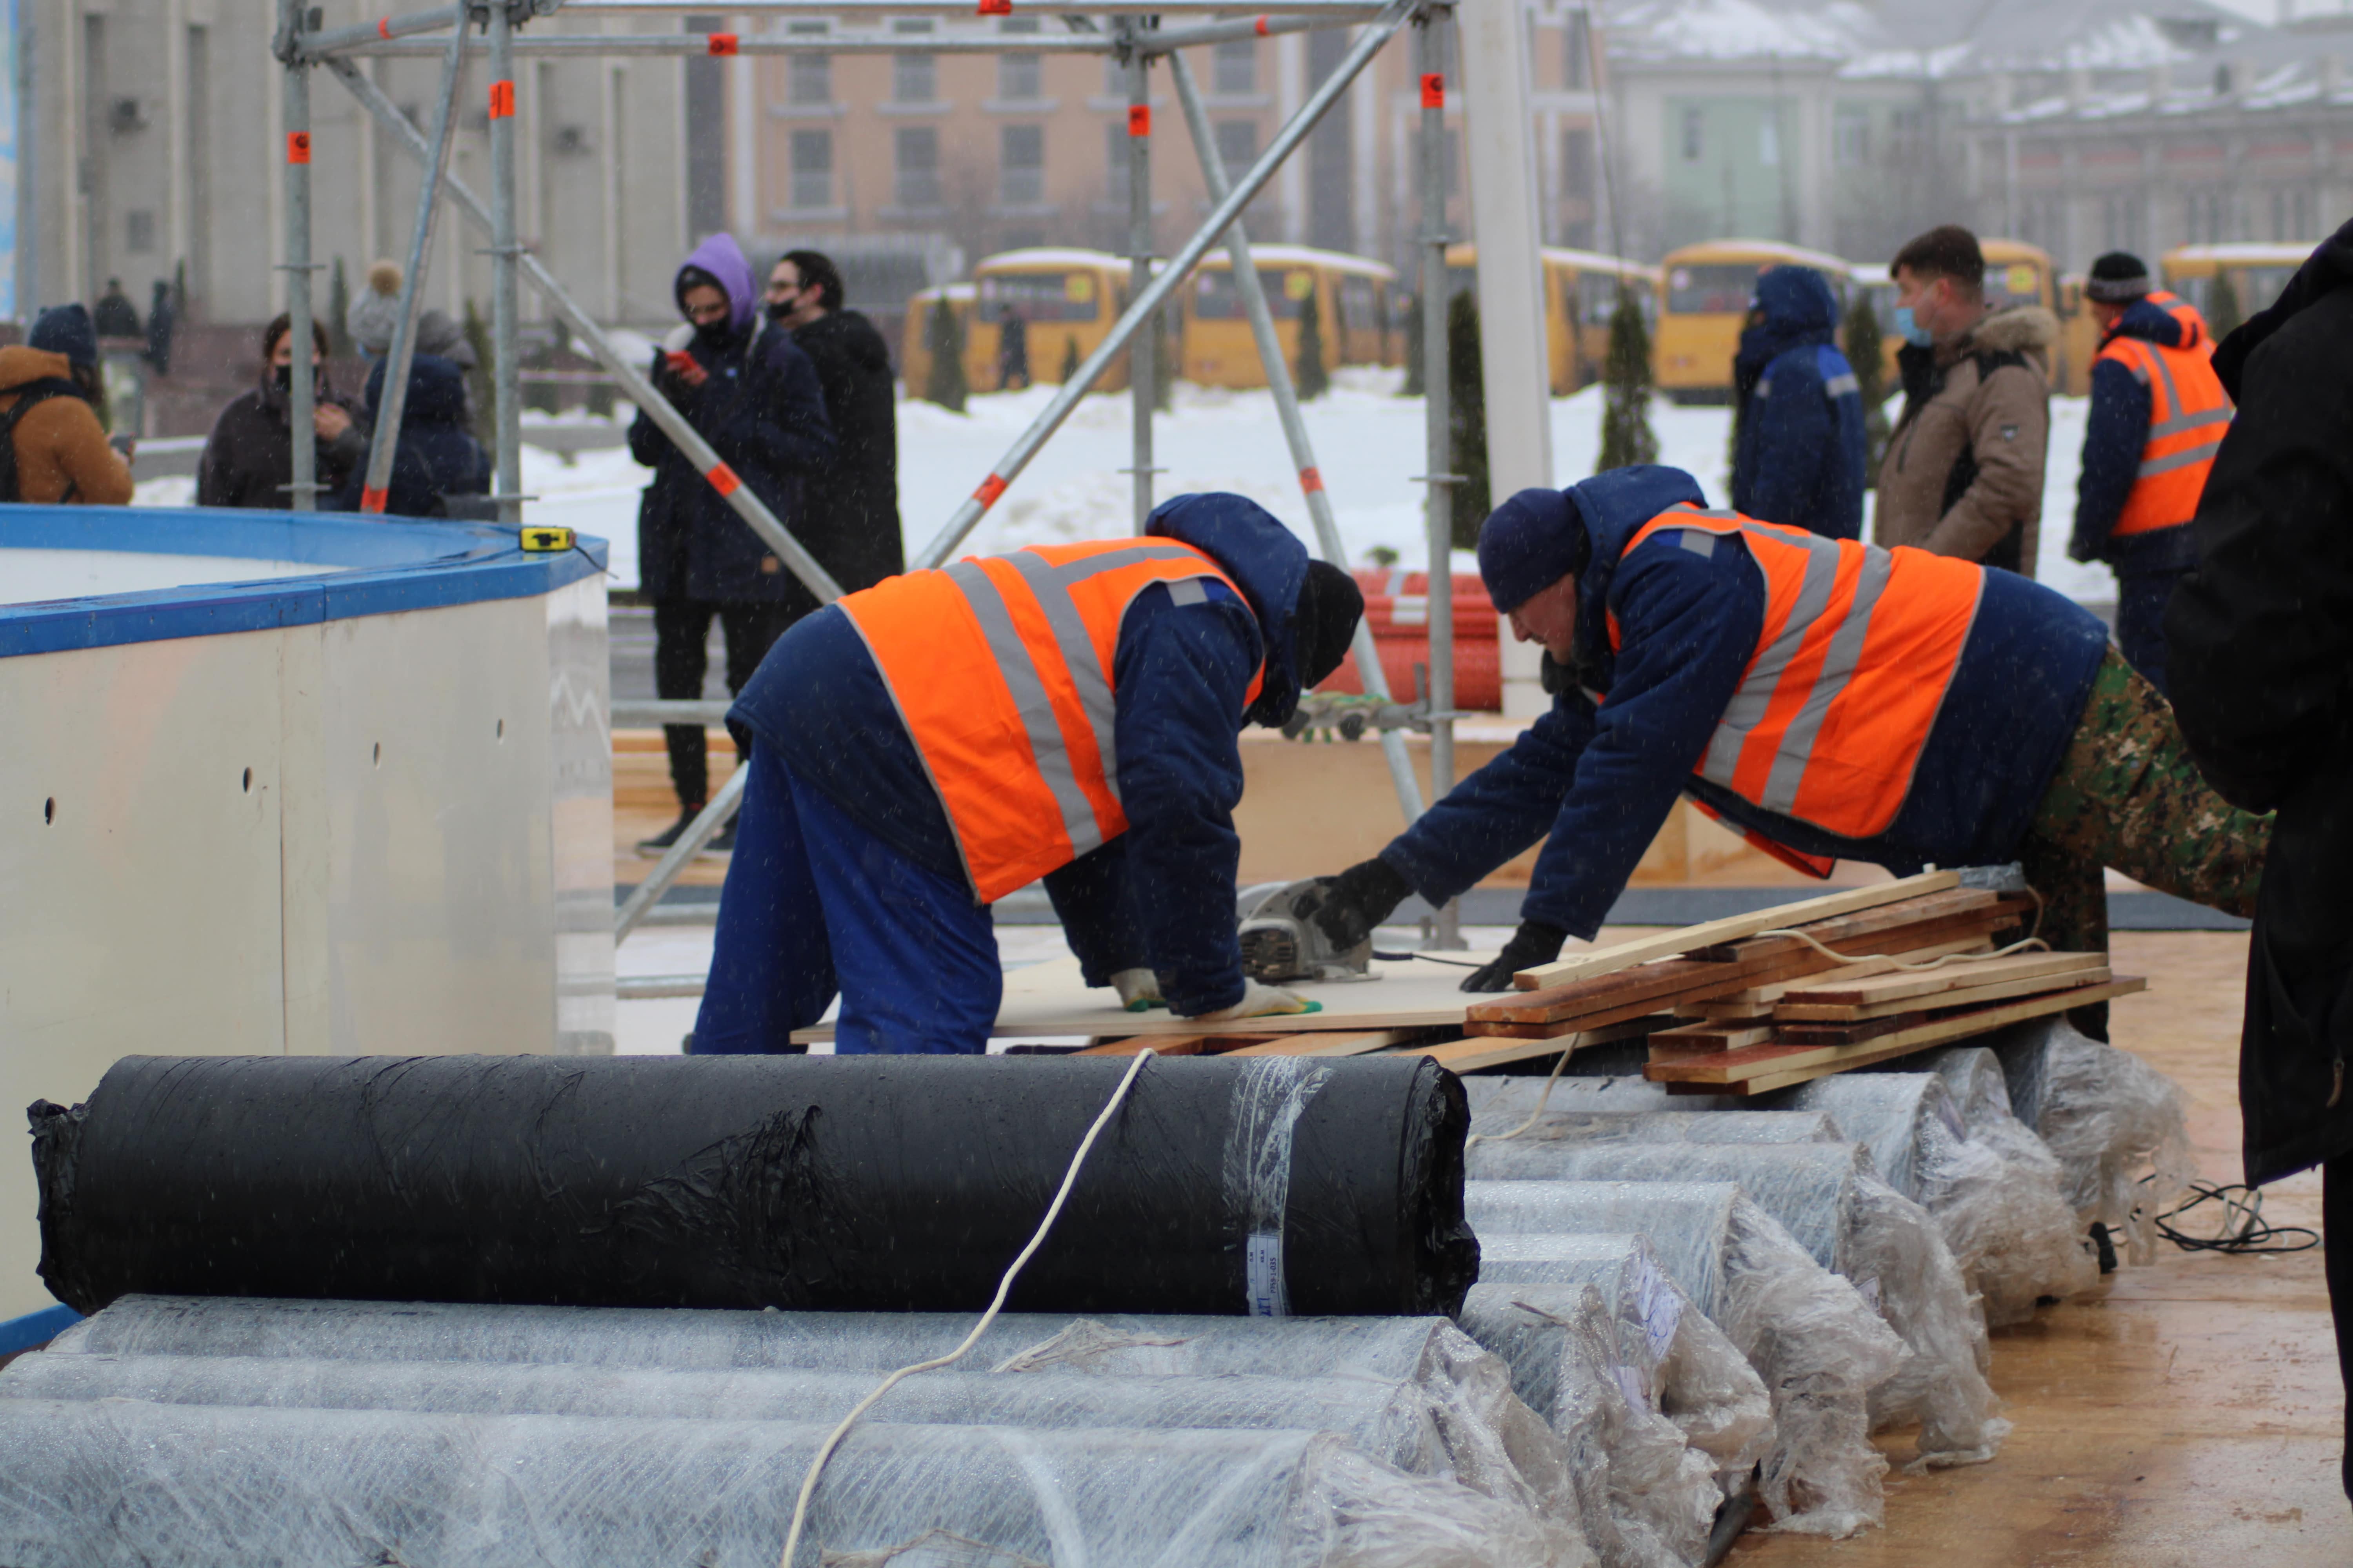
[[[1967,228],[1932,228],[1889,263],[1904,416],[1880,461],[1873,538],[2035,574],[2052,343],[2040,306],[1986,313],[1986,256]]]

